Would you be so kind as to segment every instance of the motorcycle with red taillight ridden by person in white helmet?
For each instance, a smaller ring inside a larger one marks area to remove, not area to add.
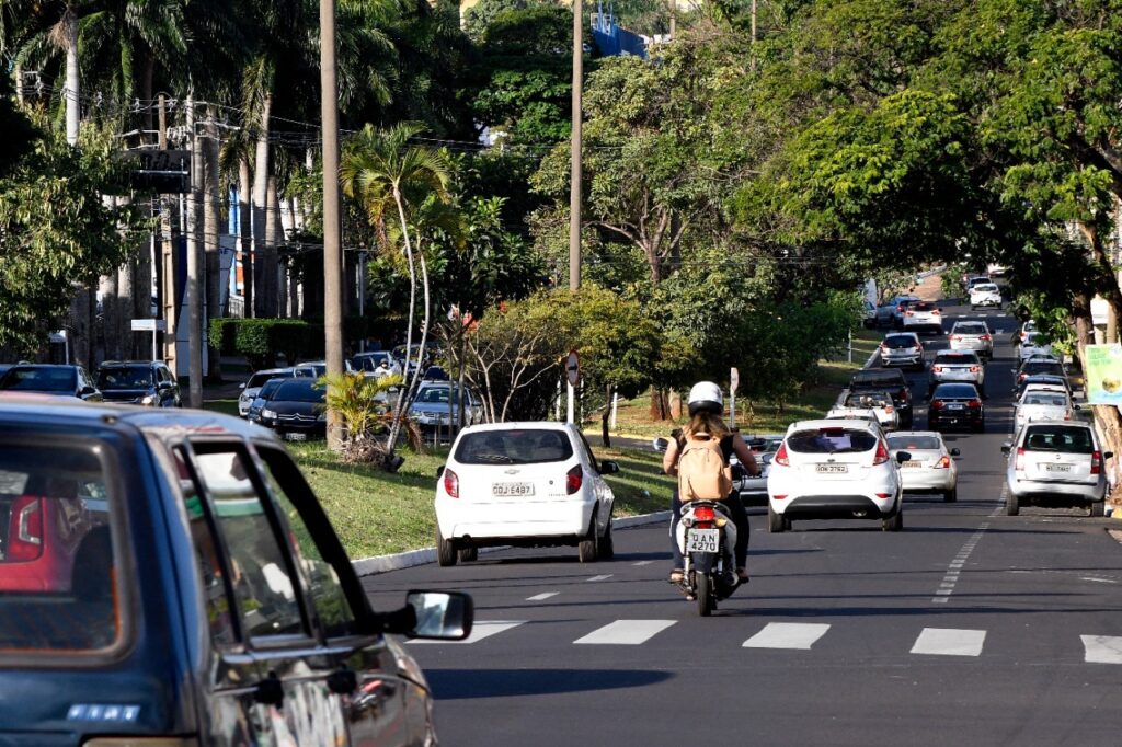
[[[668,445],[665,439],[654,440],[655,451],[665,451]],[[734,477],[739,479],[737,471],[734,469]],[[728,599],[741,585],[733,557],[736,536],[736,524],[723,501],[693,500],[682,505],[673,537],[683,563],[682,580],[677,585],[687,600],[697,602],[701,617],[711,615],[717,602]]]

